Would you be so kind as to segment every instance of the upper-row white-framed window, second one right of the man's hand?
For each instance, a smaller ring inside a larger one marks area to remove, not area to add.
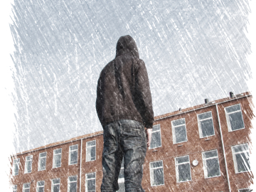
[[[172,121],[171,127],[173,131],[174,144],[188,141],[185,118]]]

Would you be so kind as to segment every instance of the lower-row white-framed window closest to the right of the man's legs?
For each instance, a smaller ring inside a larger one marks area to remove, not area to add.
[[[151,186],[164,185],[164,166],[163,161],[149,163]]]

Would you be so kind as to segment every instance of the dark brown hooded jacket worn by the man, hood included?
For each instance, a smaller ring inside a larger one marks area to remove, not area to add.
[[[100,73],[96,110],[103,128],[118,119],[136,120],[146,128],[153,126],[149,78],[131,36],[119,38],[116,57]]]

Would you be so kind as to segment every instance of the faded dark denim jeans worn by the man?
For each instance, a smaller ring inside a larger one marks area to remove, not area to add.
[[[118,176],[124,157],[124,185],[126,192],[141,192],[142,165],[146,156],[144,125],[130,119],[120,119],[104,127],[101,191],[118,191]]]

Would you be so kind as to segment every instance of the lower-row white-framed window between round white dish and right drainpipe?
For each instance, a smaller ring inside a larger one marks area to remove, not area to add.
[[[217,149],[205,151],[203,156],[203,171],[205,178],[220,176],[220,164]]]

